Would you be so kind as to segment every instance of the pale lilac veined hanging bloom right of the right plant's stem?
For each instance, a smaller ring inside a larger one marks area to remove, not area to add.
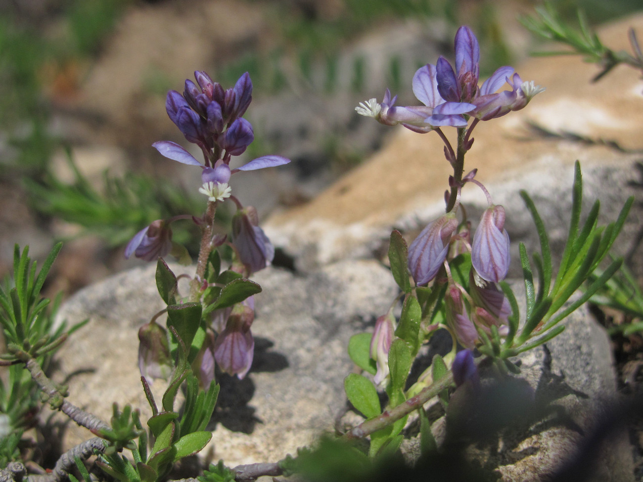
[[[473,235],[471,263],[487,281],[497,283],[509,271],[509,235],[505,230],[505,208],[491,204],[480,218]]]

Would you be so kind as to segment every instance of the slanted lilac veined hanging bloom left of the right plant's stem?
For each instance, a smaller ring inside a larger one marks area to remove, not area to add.
[[[458,221],[448,213],[428,224],[408,248],[408,269],[416,285],[435,278],[449,251],[449,242]]]

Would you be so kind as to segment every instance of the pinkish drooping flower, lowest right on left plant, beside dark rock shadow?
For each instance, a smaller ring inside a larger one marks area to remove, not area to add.
[[[250,367],[255,350],[255,340],[250,325],[255,312],[242,303],[232,308],[226,328],[217,336],[214,343],[214,358],[221,370],[243,379]]]

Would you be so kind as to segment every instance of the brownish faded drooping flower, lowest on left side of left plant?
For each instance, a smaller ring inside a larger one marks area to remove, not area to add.
[[[145,323],[138,330],[138,368],[141,375],[151,382],[152,379],[168,379],[172,373],[170,349],[167,333],[156,321]]]

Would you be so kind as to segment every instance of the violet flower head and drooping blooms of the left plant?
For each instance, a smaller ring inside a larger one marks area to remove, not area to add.
[[[280,166],[290,161],[281,156],[262,156],[238,168],[230,168],[232,158],[243,154],[254,139],[252,125],[242,117],[252,100],[250,76],[244,73],[235,86],[227,90],[203,71],[196,71],[194,76],[196,83],[186,80],[183,93],[170,91],[167,94],[165,109],[186,140],[199,147],[203,162],[197,161],[188,150],[172,141],[159,141],[153,146],[168,159],[201,168],[199,192],[208,198],[208,210],[201,218],[182,215],[152,222],[132,238],[125,249],[125,257],[134,254],[143,260],[153,261],[167,254],[181,253],[180,247],[172,242],[170,223],[192,219],[202,228],[212,226],[216,206],[230,199],[237,207],[232,218],[232,231],[230,235],[213,234],[211,239],[205,240],[205,249],[212,250],[224,243],[230,245],[233,251],[231,269],[248,278],[272,262],[275,249],[258,226],[255,208],[244,207],[233,195],[229,184],[231,175]],[[203,249],[202,241],[202,252]],[[207,283],[199,276],[199,265],[195,280],[203,292]],[[209,326],[212,331],[206,334],[198,357],[199,378],[204,386],[213,380],[215,363],[222,371],[239,378],[248,373],[253,360],[254,340],[250,326],[254,316],[252,297],[233,307],[213,312]],[[139,364],[145,377],[167,375],[162,365],[169,359],[168,348],[167,343],[159,341],[163,338],[159,332],[165,334],[165,329],[151,321],[139,333]]]

